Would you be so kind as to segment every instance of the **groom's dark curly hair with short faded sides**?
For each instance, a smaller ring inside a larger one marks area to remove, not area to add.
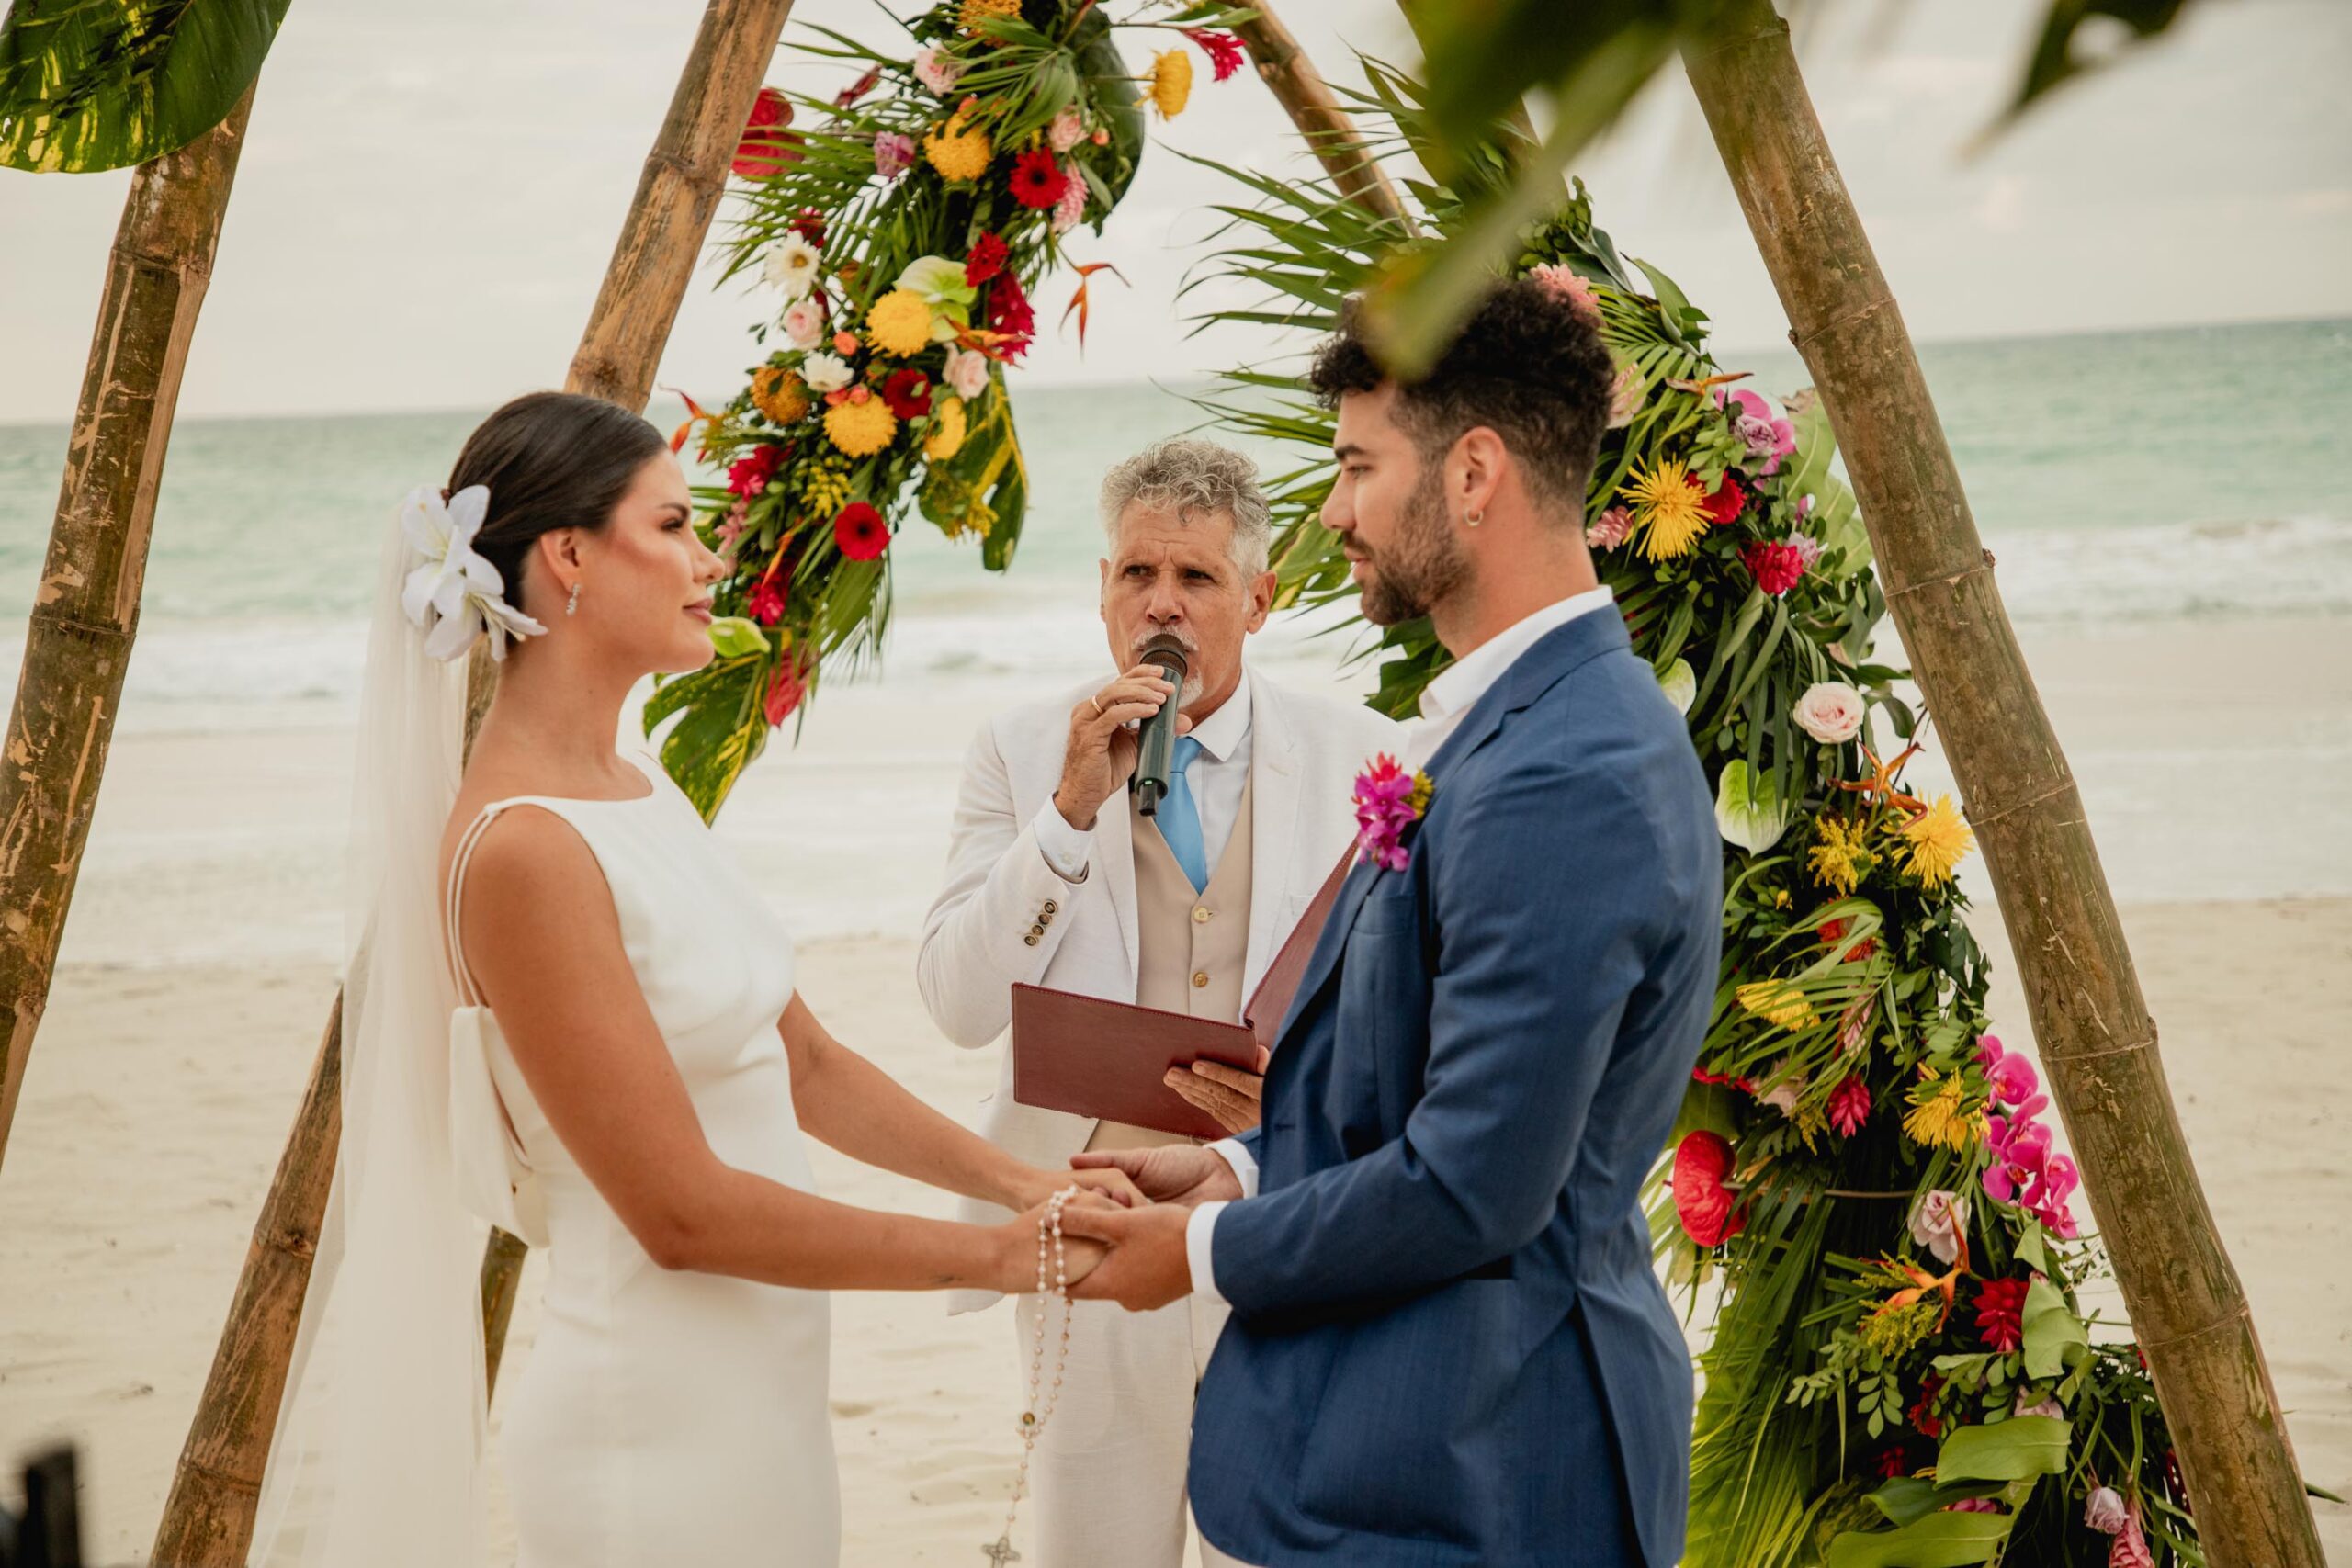
[[[1423,470],[1465,430],[1486,425],[1519,461],[1536,498],[1576,522],[1583,522],[1585,484],[1609,428],[1613,378],[1599,331],[1531,277],[1489,289],[1425,376],[1390,376],[1364,331],[1359,299],[1341,310],[1338,331],[1308,369],[1308,388],[1324,407],[1395,381],[1397,423],[1414,437]]]

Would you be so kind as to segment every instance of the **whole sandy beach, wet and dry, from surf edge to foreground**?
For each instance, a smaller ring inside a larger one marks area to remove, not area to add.
[[[2312,1481],[2352,1493],[2352,621],[2034,630],[2027,654],[2126,903],[2164,1063]],[[990,1053],[913,987],[955,764],[1011,682],[828,691],[722,818],[807,933],[809,1001],[969,1117]],[[143,1561],[334,987],[346,741],[125,736],[0,1171],[0,1455],[71,1436],[101,1563]],[[2002,1037],[2030,1027],[1983,882]],[[948,1201],[818,1152],[856,1204]],[[510,1366],[529,1354],[524,1279]],[[851,1566],[967,1563],[1011,1483],[1002,1312],[842,1295]],[[2352,1507],[2319,1505],[2352,1563]]]

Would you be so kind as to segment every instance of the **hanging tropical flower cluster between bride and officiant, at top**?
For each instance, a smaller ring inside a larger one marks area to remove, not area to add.
[[[906,24],[906,56],[811,28],[804,54],[856,78],[830,101],[760,94],[736,150],[727,277],[774,287],[767,350],[741,393],[691,418],[724,484],[699,527],[727,562],[720,656],[661,682],[670,776],[715,813],[767,733],[837,658],[889,621],[889,545],[910,515],[1011,564],[1028,505],[1004,369],[1030,348],[1033,292],[1101,233],[1143,153],[1143,106],[1176,118],[1192,49],[1216,80],[1242,61],[1216,5],[1148,5],[1120,28],[1167,38],[1134,73],[1094,0],[957,0]],[[809,129],[795,129],[809,110]],[[1087,327],[1075,266],[1065,317]],[[682,717],[680,717],[682,715]]]

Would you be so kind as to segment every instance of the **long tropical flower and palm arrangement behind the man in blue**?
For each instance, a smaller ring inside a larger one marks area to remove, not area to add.
[[[1421,89],[1367,75],[1367,141],[1414,158]],[[1402,181],[1414,233],[1329,183],[1225,169],[1258,200],[1230,209],[1254,233],[1214,266],[1279,296],[1225,317],[1329,331],[1350,289],[1381,287],[1374,256],[1444,244],[1512,153],[1482,150],[1451,188]],[[1616,252],[1581,183],[1512,270],[1618,360],[1588,541],[1724,837],[1722,980],[1651,1206],[1668,1279],[1693,1314],[1712,1305],[1686,1561],[2201,1563],[2154,1387],[2082,1305],[2103,1265],[2074,1168],[2030,1060],[1987,1034],[1955,879],[1971,832],[1903,780],[1922,717],[1872,654],[1884,597],[1825,414],[1719,369],[1705,315]],[[1279,371],[1232,371],[1202,402],[1308,449],[1275,484],[1279,602],[1350,597],[1319,524],[1331,414]],[[1446,661],[1425,623],[1369,651],[1395,715]]]

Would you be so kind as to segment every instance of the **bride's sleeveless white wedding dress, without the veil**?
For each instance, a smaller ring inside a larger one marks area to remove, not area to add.
[[[793,997],[783,924],[642,755],[642,799],[517,797],[564,818],[612,886],[637,987],[722,1161],[814,1192],[776,1020]],[[487,1009],[487,1079],[543,1204],[548,1286],[539,1340],[501,1378],[520,1568],[774,1563],[833,1568],[840,1481],[826,1413],[823,1291],[654,1265],[548,1126]],[[459,1032],[459,1051],[466,1048]],[[475,1074],[456,1063],[456,1093]]]

